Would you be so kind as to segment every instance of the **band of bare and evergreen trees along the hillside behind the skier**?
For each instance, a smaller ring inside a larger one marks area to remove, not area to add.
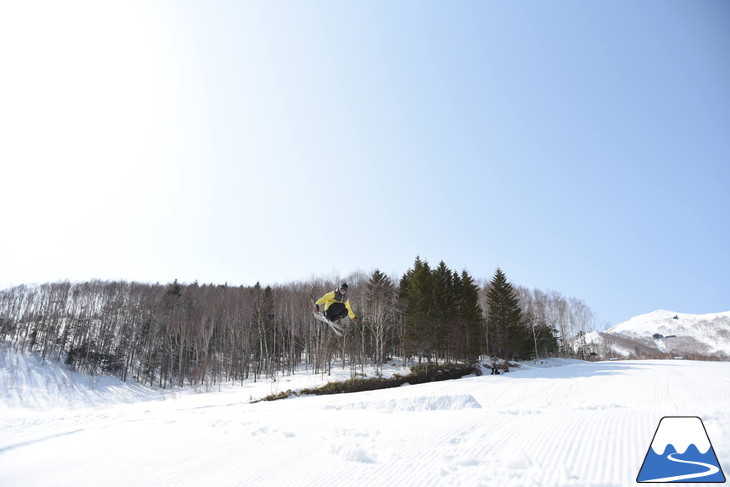
[[[357,322],[336,336],[313,302],[342,281],[276,286],[57,282],[0,291],[0,339],[73,370],[158,386],[276,379],[305,366],[376,368],[480,357],[581,356],[569,338],[595,327],[581,300],[513,286],[497,269],[477,283],[416,258],[399,279],[348,276]]]

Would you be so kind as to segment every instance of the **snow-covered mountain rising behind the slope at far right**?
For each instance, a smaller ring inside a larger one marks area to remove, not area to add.
[[[687,314],[654,311],[635,316],[586,342],[599,357],[730,359],[730,311]]]

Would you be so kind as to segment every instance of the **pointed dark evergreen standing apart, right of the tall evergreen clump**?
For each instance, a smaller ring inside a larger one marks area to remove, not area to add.
[[[528,358],[530,335],[522,324],[522,309],[512,285],[497,268],[487,292],[490,353],[503,358]]]

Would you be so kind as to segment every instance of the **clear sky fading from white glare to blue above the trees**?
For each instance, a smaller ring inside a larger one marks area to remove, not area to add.
[[[0,4],[0,285],[416,256],[730,310],[730,3]]]

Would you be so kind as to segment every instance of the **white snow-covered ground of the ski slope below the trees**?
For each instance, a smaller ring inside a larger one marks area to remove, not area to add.
[[[702,418],[730,465],[724,362],[551,359],[249,404],[328,378],[163,392],[0,352],[2,486],[636,485],[663,416]]]

